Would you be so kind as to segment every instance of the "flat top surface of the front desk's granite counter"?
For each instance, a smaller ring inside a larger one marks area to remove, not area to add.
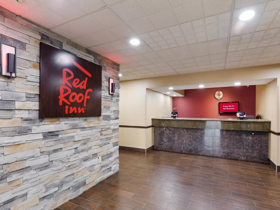
[[[267,119],[238,119],[238,118],[172,118],[172,117],[158,117],[152,119],[166,119],[166,120],[196,120],[196,121],[239,121],[239,122],[271,122]]]

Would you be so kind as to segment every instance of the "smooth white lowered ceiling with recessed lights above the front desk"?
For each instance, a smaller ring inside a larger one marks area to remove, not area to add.
[[[269,82],[271,82],[272,80],[274,80],[275,78],[268,78],[268,79],[255,79],[255,80],[240,80],[238,82],[240,82],[241,84],[238,86],[250,86],[250,85],[264,85],[267,84]],[[236,81],[237,82],[237,81]],[[212,88],[212,87],[232,87],[232,86],[236,86],[234,85],[235,82],[215,82],[215,83],[207,83],[207,84],[203,84],[204,87],[203,88]],[[172,86],[173,89],[169,90],[170,86],[165,86],[165,87],[151,87],[148,89],[151,89],[153,91],[157,91],[160,92],[162,94],[168,95],[168,96],[172,96],[172,97],[180,97],[182,95],[180,95],[179,93],[175,92],[176,90],[189,90],[189,89],[203,89],[200,88],[199,85],[202,84],[192,84],[192,85],[178,85],[178,86]],[[170,93],[167,93],[170,92]],[[173,96],[176,95],[176,96]]]

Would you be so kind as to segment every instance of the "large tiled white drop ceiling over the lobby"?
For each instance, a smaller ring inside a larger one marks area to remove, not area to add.
[[[280,0],[1,0],[0,5],[120,63],[121,80],[280,63]],[[249,9],[255,16],[239,21]],[[141,39],[140,46],[129,44],[132,37]]]

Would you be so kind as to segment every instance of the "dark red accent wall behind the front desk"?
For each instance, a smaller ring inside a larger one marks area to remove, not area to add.
[[[214,97],[214,93],[218,90],[224,94],[221,100]],[[173,97],[173,108],[177,109],[178,117],[236,118],[236,114],[219,114],[218,102],[228,101],[239,101],[239,111],[245,111],[247,115],[255,115],[256,86],[185,90],[184,97]]]

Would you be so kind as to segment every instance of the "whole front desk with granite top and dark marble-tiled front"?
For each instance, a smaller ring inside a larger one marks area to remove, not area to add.
[[[154,149],[268,162],[265,119],[153,118]]]

